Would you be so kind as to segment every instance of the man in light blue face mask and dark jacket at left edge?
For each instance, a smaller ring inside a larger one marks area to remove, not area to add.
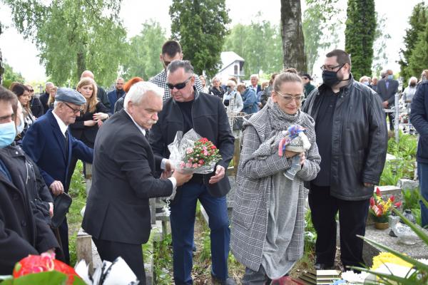
[[[0,86],[0,148],[14,142],[15,123],[12,105],[16,95]],[[16,173],[0,160],[0,275],[9,275],[14,265],[29,254],[53,253],[58,248],[48,224],[34,215],[25,189],[16,187]]]

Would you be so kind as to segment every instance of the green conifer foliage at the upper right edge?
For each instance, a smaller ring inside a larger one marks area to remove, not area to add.
[[[406,29],[406,35],[404,36],[404,50],[400,50],[400,75],[403,78],[404,87],[407,86],[409,78],[412,76],[418,76],[422,70],[427,68],[425,63],[419,63],[417,61],[411,60],[412,54],[414,53],[414,48],[419,42],[419,33],[425,30],[427,26],[427,6],[424,2],[421,2],[413,7],[412,15],[409,17],[410,27]],[[409,66],[409,63],[413,61],[412,67]]]

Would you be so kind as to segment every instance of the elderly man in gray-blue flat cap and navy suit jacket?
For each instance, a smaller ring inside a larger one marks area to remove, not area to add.
[[[54,110],[49,110],[31,125],[22,143],[24,151],[39,166],[54,197],[68,192],[66,181],[72,155],[92,163],[93,150],[68,132],[68,125],[74,123],[81,112],[81,105],[85,103],[86,99],[76,90],[58,88]],[[69,264],[66,219],[58,229],[65,261]]]

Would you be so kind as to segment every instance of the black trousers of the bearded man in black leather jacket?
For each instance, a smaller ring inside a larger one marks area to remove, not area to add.
[[[336,221],[339,212],[340,260],[344,266],[361,266],[363,240],[357,234],[365,235],[365,225],[370,199],[347,201],[330,195],[330,187],[311,184],[309,206],[312,224],[317,231],[315,254],[317,263],[333,266],[336,254]]]

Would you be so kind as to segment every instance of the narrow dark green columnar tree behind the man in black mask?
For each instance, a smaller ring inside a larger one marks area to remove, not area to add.
[[[345,51],[351,55],[352,75],[357,80],[372,74],[375,31],[374,0],[348,0]]]

